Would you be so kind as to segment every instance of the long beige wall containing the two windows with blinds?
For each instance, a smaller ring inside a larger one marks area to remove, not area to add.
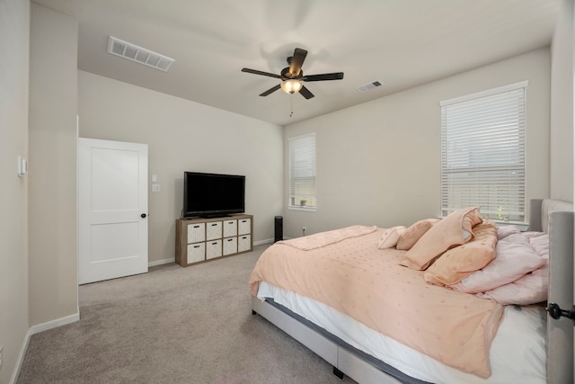
[[[316,132],[317,211],[284,210],[284,235],[351,224],[410,225],[439,212],[439,102],[528,80],[526,199],[549,196],[549,49],[289,125]],[[288,165],[286,150],[285,164]],[[288,168],[285,168],[288,183]],[[571,174],[572,180],[572,174]],[[571,182],[572,184],[572,182]],[[527,216],[528,217],[528,216]]]

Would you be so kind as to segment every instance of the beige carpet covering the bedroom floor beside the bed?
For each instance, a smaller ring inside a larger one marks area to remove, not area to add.
[[[353,383],[252,315],[267,246],[83,285],[80,321],[31,336],[18,383]]]

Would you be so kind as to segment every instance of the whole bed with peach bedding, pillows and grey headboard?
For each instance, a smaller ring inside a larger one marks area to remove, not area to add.
[[[573,304],[572,210],[531,201],[526,232],[473,208],[421,220],[428,228],[417,235],[420,222],[281,241],[252,272],[252,313],[359,383],[572,382],[573,322],[545,312],[546,299]],[[517,259],[500,255],[517,251],[516,240],[529,266],[481,290],[495,261],[515,269]]]

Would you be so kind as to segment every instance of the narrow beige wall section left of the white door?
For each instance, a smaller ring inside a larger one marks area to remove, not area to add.
[[[28,175],[31,326],[78,316],[77,36],[75,20],[31,4]]]

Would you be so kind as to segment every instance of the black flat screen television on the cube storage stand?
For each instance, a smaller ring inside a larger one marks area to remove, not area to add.
[[[217,218],[243,213],[244,197],[243,175],[183,173],[184,218]]]

